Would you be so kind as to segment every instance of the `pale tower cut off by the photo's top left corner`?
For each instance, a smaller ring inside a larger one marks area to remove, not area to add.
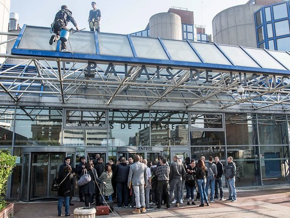
[[[8,32],[8,23],[9,23],[9,12],[10,12],[10,0],[0,1],[0,32]],[[7,36],[0,35],[0,42],[7,41]],[[0,45],[0,53],[6,53],[6,44]],[[4,61],[5,58],[0,58],[0,64]]]

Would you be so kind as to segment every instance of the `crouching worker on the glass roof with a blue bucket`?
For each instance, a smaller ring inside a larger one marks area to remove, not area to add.
[[[51,32],[55,33],[56,35],[51,36],[49,40],[50,45],[59,40],[60,30],[66,29],[69,21],[71,21],[71,23],[73,23],[74,26],[76,26],[76,29],[79,31],[77,22],[75,21],[72,12],[67,9],[66,5],[63,5],[61,6],[61,10],[56,13],[54,22],[51,24]],[[66,49],[66,42],[61,42],[61,51],[68,51]]]

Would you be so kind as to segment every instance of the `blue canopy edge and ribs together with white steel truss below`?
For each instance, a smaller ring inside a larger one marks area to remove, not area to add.
[[[100,54],[97,33],[93,42],[96,54],[20,49],[25,28],[13,54],[0,54],[6,57],[0,65],[0,95],[9,96],[15,104],[27,105],[38,99],[43,104],[99,108],[122,105],[152,110],[164,105],[176,110],[290,110],[290,72],[267,50],[265,53],[279,65],[277,69],[262,68],[242,47],[259,67],[235,66],[218,44],[213,45],[229,65],[205,63],[191,42],[187,43],[200,63],[172,60],[160,38],[168,60],[138,57],[132,36],[126,36],[132,57],[104,55]],[[17,65],[5,64],[10,59],[22,61]],[[94,77],[87,77],[91,60],[96,63]]]

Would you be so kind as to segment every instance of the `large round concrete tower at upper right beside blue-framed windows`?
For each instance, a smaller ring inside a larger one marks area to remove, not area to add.
[[[239,5],[215,15],[212,19],[213,42],[257,48],[254,13],[261,7]]]

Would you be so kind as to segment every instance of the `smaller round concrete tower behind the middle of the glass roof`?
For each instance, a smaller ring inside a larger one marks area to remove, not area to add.
[[[183,40],[182,22],[179,15],[165,12],[153,15],[149,20],[150,37]]]

